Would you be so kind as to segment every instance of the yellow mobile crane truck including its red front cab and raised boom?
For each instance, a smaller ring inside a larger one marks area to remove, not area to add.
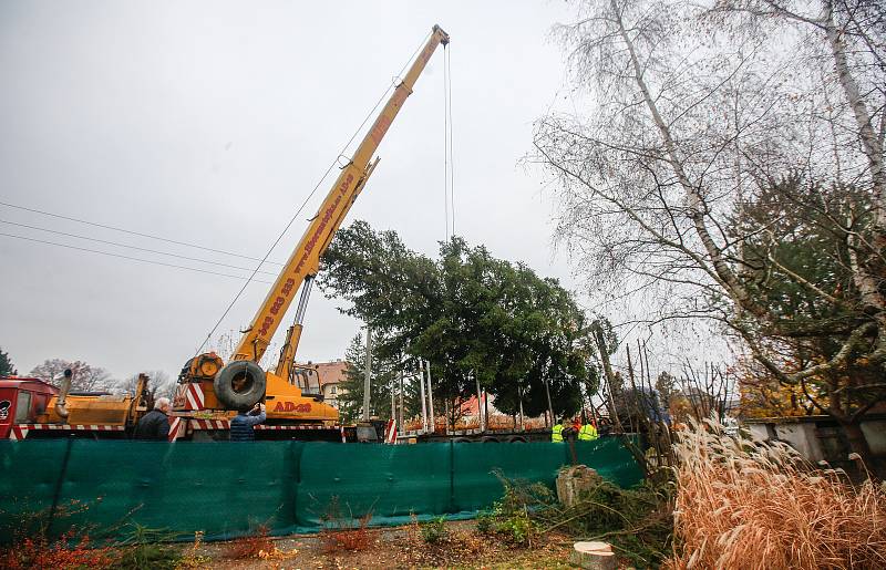
[[[258,402],[266,404],[268,419],[256,426],[257,438],[344,442],[357,437],[357,426],[338,425],[338,410],[322,402],[316,369],[295,361],[305,310],[319,271],[320,257],[379,164],[378,157],[372,158],[373,154],[406,97],[412,94],[415,81],[437,45],[445,46],[449,41],[449,34],[434,25],[430,39],[311,218],[250,325],[244,331],[230,362],[226,364],[215,352],[207,352],[185,363],[173,401],[171,439],[227,439],[228,419],[237,411],[250,408]],[[299,291],[295,322],[287,331],[277,366],[266,372],[258,362]],[[55,404],[61,398],[64,408],[64,387],[60,392],[35,379],[2,379],[0,391],[3,395],[8,393],[8,397],[0,400],[9,402],[9,405],[0,410],[0,437],[21,439],[37,433],[125,437],[145,411],[142,402],[144,382],[147,382],[146,377],[134,396],[70,396],[66,405],[71,412],[60,415],[55,412]],[[25,398],[28,404],[23,403]],[[74,421],[82,423],[74,424]]]

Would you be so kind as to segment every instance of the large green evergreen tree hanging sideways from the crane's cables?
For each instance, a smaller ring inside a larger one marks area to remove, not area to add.
[[[454,237],[440,257],[411,251],[364,221],[340,230],[320,287],[378,331],[381,359],[431,363],[435,397],[465,401],[476,383],[502,412],[574,414],[598,373],[590,322],[555,279]],[[453,406],[454,408],[455,406]]]

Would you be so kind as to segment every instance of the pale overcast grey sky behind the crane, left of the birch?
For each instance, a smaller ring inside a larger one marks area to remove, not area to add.
[[[518,165],[555,104],[563,2],[0,2],[0,200],[261,257],[434,23],[452,37],[455,225],[493,255],[575,283],[553,204]],[[349,220],[434,255],[444,238],[443,56],[382,143]],[[331,179],[271,256],[285,259]],[[0,219],[253,267],[0,206]],[[0,232],[246,276],[53,236]],[[85,360],[177,374],[243,281],[0,237],[0,346],[20,372]],[[262,279],[272,280],[270,276]],[[219,332],[248,324],[251,284]],[[295,309],[295,303],[292,309]],[[300,357],[341,357],[360,323],[315,292]],[[285,331],[278,331],[278,338]]]

